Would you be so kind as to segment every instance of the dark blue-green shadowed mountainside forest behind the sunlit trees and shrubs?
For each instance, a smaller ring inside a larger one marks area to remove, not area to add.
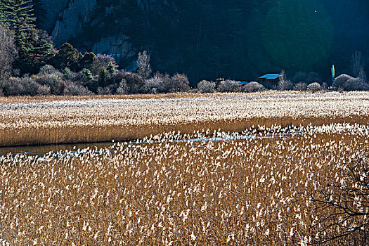
[[[366,0],[97,0],[83,32],[64,41],[89,50],[127,35],[137,52],[150,51],[154,70],[184,72],[194,82],[282,69],[327,78],[332,64],[349,73],[354,51],[368,56],[368,26]]]

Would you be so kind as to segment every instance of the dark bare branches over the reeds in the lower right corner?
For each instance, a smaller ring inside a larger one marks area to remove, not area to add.
[[[347,164],[347,174],[327,184],[325,190],[311,192],[320,219],[315,243],[341,239],[347,245],[369,243],[369,160],[363,154]],[[326,213],[326,211],[329,211]],[[319,215],[328,214],[328,215]]]

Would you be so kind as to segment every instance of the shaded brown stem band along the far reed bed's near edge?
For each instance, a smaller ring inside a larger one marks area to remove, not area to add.
[[[316,117],[294,119],[285,118],[255,118],[238,120],[219,120],[217,122],[190,122],[172,125],[145,125],[143,127],[108,126],[108,127],[57,127],[47,129],[18,129],[17,134],[8,136],[11,129],[0,129],[0,147],[15,147],[27,145],[50,145],[67,143],[107,143],[111,141],[135,141],[169,132],[181,132],[181,134],[194,134],[197,131],[224,131],[241,132],[260,127],[308,127],[324,126],[328,124],[369,124],[369,117],[358,118],[330,118]]]

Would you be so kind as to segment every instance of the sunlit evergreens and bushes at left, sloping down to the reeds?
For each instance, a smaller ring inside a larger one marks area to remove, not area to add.
[[[69,43],[57,49],[36,20],[32,1],[0,0],[0,95],[152,93],[153,77],[158,92],[190,89],[186,75],[153,75],[146,51],[137,71],[126,72],[111,56],[82,54]]]

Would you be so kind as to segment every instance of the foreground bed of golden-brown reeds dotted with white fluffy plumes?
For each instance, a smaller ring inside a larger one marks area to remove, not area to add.
[[[172,132],[58,157],[0,157],[0,242],[308,245],[340,233],[320,232],[337,209],[317,210],[310,194],[350,182],[368,135],[368,124]],[[229,140],[173,141],[202,136]],[[365,233],[328,245],[368,245]]]

